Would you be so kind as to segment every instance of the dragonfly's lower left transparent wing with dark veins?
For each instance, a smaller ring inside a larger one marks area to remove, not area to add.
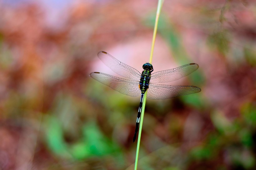
[[[138,96],[140,94],[139,81],[118,78],[100,72],[92,72],[90,76],[95,80],[103,83],[104,85],[119,91],[122,94],[126,94],[132,97]]]

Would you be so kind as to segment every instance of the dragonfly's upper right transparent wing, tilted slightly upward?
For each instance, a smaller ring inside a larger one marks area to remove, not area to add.
[[[174,80],[178,80],[181,77],[187,76],[198,68],[198,65],[195,63],[186,64],[174,69],[158,71],[151,74],[150,82],[151,83],[164,83]]]

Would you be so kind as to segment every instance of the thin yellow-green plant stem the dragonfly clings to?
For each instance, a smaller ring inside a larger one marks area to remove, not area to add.
[[[151,52],[150,52],[150,59],[149,59],[150,63],[152,63],[152,57],[153,57],[154,46],[155,46],[155,37],[156,37],[156,32],[157,32],[157,25],[158,25],[159,15],[160,15],[160,11],[161,11],[163,3],[164,3],[164,0],[158,0],[156,17],[155,17],[155,27],[154,27],[154,33],[153,33],[153,39],[152,39],[152,45],[151,45]],[[142,130],[142,123],[143,123],[146,99],[147,99],[147,92],[144,94],[143,101],[142,101],[142,108],[141,108],[141,115],[140,115],[140,127],[139,127],[137,149],[136,149],[136,158],[135,158],[135,166],[134,166],[135,170],[137,170],[137,166],[138,166],[138,158],[139,158],[139,150],[140,150],[140,137],[141,137],[141,130]]]

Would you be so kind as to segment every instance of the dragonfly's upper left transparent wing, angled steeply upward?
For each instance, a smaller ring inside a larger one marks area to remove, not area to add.
[[[132,79],[132,80],[140,80],[140,72],[135,68],[132,68],[111,56],[110,54],[101,51],[98,53],[98,57],[101,61],[106,64],[111,70],[119,74],[120,76]]]

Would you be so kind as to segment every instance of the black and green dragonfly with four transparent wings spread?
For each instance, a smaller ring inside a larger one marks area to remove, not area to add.
[[[104,51],[99,52],[98,57],[112,71],[125,78],[119,78],[100,72],[92,72],[90,74],[92,78],[128,96],[136,97],[141,94],[133,142],[136,140],[139,129],[142,101],[146,91],[149,99],[168,99],[201,91],[199,87],[191,85],[155,84],[171,82],[189,75],[198,68],[196,63],[190,63],[174,69],[158,71],[151,74],[153,66],[148,62],[142,66],[144,70],[140,73],[135,68],[118,61]]]

